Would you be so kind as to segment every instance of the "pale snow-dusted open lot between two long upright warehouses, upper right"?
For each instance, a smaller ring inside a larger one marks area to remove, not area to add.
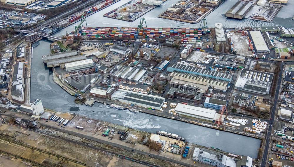
[[[249,40],[246,35],[242,35],[239,32],[228,32],[227,37],[233,41],[233,50],[237,51],[236,54],[240,54],[240,56],[252,56],[252,51],[248,50]]]

